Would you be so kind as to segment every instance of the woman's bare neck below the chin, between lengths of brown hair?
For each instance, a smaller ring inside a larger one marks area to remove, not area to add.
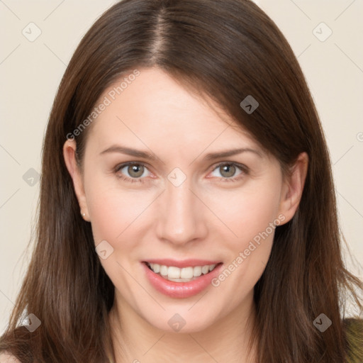
[[[119,295],[109,320],[115,363],[256,362],[255,343],[248,354],[255,323],[253,294],[213,325],[192,333],[155,328]]]

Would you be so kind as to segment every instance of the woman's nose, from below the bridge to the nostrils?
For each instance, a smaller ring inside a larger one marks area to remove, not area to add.
[[[167,181],[157,205],[157,237],[174,245],[206,238],[206,207],[187,178],[181,185]]]

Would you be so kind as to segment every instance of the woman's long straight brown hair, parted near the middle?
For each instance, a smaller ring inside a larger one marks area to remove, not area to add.
[[[62,147],[106,87],[133,69],[159,67],[205,94],[288,169],[307,152],[301,203],[277,227],[255,286],[258,362],[341,363],[349,352],[345,296],[363,284],[345,269],[328,148],[306,80],[274,22],[249,0],[123,0],[86,33],[57,91],[43,145],[33,256],[0,350],[21,362],[111,360],[114,286],[79,213]],[[251,95],[253,113],[240,103]],[[94,121],[97,122],[97,121]],[[82,165],[89,129],[74,136]],[[19,327],[24,312],[41,321]],[[313,321],[332,325],[321,333]],[[362,357],[360,359],[363,359]]]

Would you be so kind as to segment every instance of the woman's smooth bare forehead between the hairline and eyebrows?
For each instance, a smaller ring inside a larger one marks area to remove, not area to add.
[[[211,143],[257,146],[251,135],[218,105],[161,69],[141,69],[137,77],[124,74],[108,86],[99,102],[103,100],[107,106],[96,118],[90,135],[99,144],[131,138],[135,143],[147,140],[169,147],[194,145],[198,149]]]

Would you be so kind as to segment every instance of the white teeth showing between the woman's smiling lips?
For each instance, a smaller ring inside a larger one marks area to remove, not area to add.
[[[152,264],[150,262],[144,262],[147,267],[155,274],[160,275],[162,278],[174,282],[189,282],[199,277],[209,274],[217,266],[222,264],[206,264],[204,266],[194,266],[194,267],[179,267],[166,266],[164,264]]]

